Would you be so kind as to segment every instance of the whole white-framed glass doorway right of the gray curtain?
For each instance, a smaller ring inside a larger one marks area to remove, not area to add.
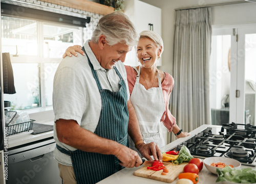
[[[256,25],[213,27],[210,58],[214,125],[255,125]]]

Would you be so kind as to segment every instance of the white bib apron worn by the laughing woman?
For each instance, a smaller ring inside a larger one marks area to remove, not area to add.
[[[136,82],[130,97],[131,102],[134,106],[140,131],[143,139],[146,143],[155,142],[158,147],[165,146],[162,129],[161,129],[161,118],[165,110],[165,103],[163,98],[163,91],[161,86],[160,75],[157,70],[158,86],[145,89],[145,87],[139,83],[140,80],[140,68],[137,71]],[[135,145],[129,137],[130,148],[136,150]]]

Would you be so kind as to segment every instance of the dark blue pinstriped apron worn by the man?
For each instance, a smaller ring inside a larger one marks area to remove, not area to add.
[[[84,48],[83,52],[86,53]],[[127,135],[129,112],[127,108],[125,82],[117,68],[114,67],[114,70],[120,78],[119,90],[113,92],[108,89],[102,89],[97,73],[93,70],[93,65],[88,55],[87,58],[98,85],[102,106],[99,122],[94,133],[106,139],[116,141],[124,146],[129,146]],[[123,168],[119,164],[117,157],[114,155],[105,155],[81,150],[69,152],[58,145],[56,146],[62,153],[71,155],[72,165],[78,184],[96,183]]]

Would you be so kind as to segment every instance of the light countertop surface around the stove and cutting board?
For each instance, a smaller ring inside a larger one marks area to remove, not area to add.
[[[170,149],[173,149],[181,142],[188,140],[190,137],[194,136],[195,134],[204,130],[207,127],[219,127],[219,126],[218,125],[202,125],[202,126],[198,127],[197,129],[191,131],[189,136],[177,139],[177,140],[173,141],[172,143],[163,147],[161,150],[168,151]],[[131,184],[131,183],[133,183],[133,184],[137,184],[137,183],[138,184],[141,184],[141,183],[156,184],[156,183],[159,183],[160,184],[160,183],[162,183],[163,184],[163,183],[165,183],[165,182],[157,181],[154,179],[148,179],[148,178],[144,178],[144,177],[135,176],[134,172],[141,167],[142,166],[139,166],[138,168],[125,168],[125,169],[99,181],[98,184],[106,184],[106,183],[123,183],[123,184]],[[246,167],[255,169],[255,167],[251,167],[251,166],[244,166],[244,165],[241,166],[241,168],[246,168]],[[214,184],[214,183],[216,183],[215,181],[216,181],[217,177],[218,177],[217,175],[209,172],[204,166],[202,171],[200,171],[200,173],[199,173],[199,182],[197,184],[204,184],[204,183]],[[172,183],[174,184],[177,181],[178,181],[178,178],[176,180],[174,180]],[[221,184],[221,182],[219,182],[219,183]]]

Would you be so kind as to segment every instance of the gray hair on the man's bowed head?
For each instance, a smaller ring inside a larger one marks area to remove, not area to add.
[[[124,43],[133,47],[139,39],[133,23],[121,12],[113,12],[99,19],[93,31],[92,41],[98,43],[100,35],[105,35],[106,41],[111,46]]]

